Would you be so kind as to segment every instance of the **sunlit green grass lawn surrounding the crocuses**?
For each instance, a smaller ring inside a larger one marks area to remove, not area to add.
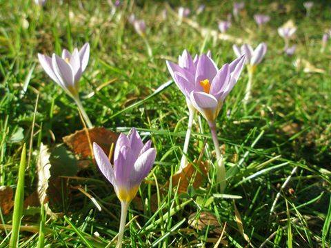
[[[176,61],[183,49],[192,54],[211,50],[222,65],[234,59],[233,42],[202,37],[185,21],[177,25],[170,5],[159,1],[130,1],[114,15],[106,1],[49,1],[41,9],[32,1],[0,0],[0,6],[1,185],[20,190],[18,165],[27,143],[24,196],[30,196],[37,189],[41,142],[54,149],[63,136],[83,128],[74,102],[43,72],[37,52],[60,54],[61,48],[72,50],[89,42],[90,61],[80,83],[93,125],[114,132],[137,127],[157,149],[152,173],[138,193],[144,207],[130,205],[123,247],[213,247],[225,223],[223,238],[230,247],[330,246],[330,45],[319,52],[322,34],[330,28],[328,1],[316,3],[310,17],[305,17],[301,1],[287,1],[277,10],[271,1],[250,1],[240,21],[232,23],[229,34],[254,47],[265,41],[268,52],[254,74],[247,107],[242,102],[248,81],[244,71],[217,118],[228,172],[225,194],[219,194],[213,169],[201,187],[189,187],[187,194],[179,194],[171,181],[165,187],[179,167],[188,110],[174,83],[159,87],[170,80],[165,59]],[[195,10],[198,4],[188,6]],[[166,21],[163,8],[168,8]],[[232,3],[208,1],[205,12],[197,16],[192,11],[190,19],[216,29],[217,20],[231,11]],[[262,30],[252,19],[256,12],[272,17]],[[152,58],[127,21],[131,13],[146,21]],[[298,26],[293,57],[281,52],[283,41],[277,34],[288,19]],[[325,73],[297,70],[297,58]],[[203,160],[215,162],[208,125],[196,118],[188,149],[191,161],[199,157],[205,141],[210,148]],[[76,163],[67,150],[68,159],[52,165],[55,170]],[[57,218],[38,206],[23,209],[19,247],[116,245],[121,208],[111,185],[92,163],[71,176],[76,177],[59,184],[59,200],[50,199]],[[101,211],[78,187],[97,200]],[[15,200],[14,208],[19,205]],[[205,213],[212,214],[217,225],[203,222]],[[17,229],[12,214],[4,215],[1,209],[0,247],[8,247],[11,228],[12,233]],[[189,219],[200,223],[199,228],[191,227]]]

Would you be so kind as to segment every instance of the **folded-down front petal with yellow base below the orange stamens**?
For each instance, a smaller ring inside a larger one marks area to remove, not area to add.
[[[190,100],[207,121],[214,121],[218,106],[214,96],[205,92],[191,92]]]

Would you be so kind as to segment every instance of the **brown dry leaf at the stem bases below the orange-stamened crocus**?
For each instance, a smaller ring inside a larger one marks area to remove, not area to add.
[[[186,165],[181,171],[172,176],[172,185],[178,185],[179,193],[186,193],[188,186],[192,183],[194,188],[201,186],[203,179],[206,178],[209,169],[207,161],[197,161]],[[169,185],[169,183],[168,183]]]

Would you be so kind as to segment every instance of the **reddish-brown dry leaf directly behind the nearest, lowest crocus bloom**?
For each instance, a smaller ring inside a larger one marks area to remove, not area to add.
[[[118,134],[106,130],[104,127],[93,127],[88,130],[88,135],[90,136],[90,142],[87,136],[86,130],[79,130],[74,134],[63,137],[63,142],[72,149],[75,154],[79,154],[81,158],[91,157],[91,145],[93,142],[100,145],[103,152],[109,154],[110,146],[112,143],[116,143]]]

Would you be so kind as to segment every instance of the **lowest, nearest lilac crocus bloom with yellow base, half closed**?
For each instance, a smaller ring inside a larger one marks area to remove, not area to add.
[[[103,149],[93,143],[93,153],[102,174],[114,186],[117,197],[123,203],[130,203],[136,196],[141,181],[145,178],[155,161],[156,151],[150,148],[151,141],[145,145],[134,128],[130,134],[120,134],[115,151],[114,167]]]

